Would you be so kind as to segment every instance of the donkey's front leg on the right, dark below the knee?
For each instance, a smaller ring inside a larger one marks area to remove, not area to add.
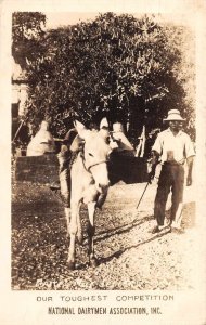
[[[89,235],[89,263],[90,266],[98,266],[98,260],[94,256],[94,244],[93,244],[93,235],[95,232],[94,226],[94,214],[95,214],[95,202],[91,202],[88,204],[88,213],[89,213],[89,225],[88,225],[88,235]]]

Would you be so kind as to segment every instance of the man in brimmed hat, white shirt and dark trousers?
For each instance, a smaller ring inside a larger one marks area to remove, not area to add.
[[[181,130],[184,119],[178,109],[170,109],[168,117],[164,119],[169,128],[160,132],[152,147],[152,171],[150,178],[155,176],[155,168],[158,161],[162,164],[162,171],[158,180],[158,187],[154,203],[154,218],[157,225],[152,233],[158,233],[164,229],[165,210],[168,195],[171,191],[171,231],[182,232],[182,206],[184,185],[184,162],[188,164],[186,186],[192,184],[192,167],[194,146],[190,136]]]

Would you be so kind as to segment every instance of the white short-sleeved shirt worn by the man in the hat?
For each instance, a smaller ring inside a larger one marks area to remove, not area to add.
[[[157,135],[152,150],[160,155],[162,164],[165,161],[183,164],[185,158],[195,155],[190,136],[183,131],[173,135],[170,128]]]

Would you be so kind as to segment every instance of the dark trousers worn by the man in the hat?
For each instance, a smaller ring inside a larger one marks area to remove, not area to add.
[[[154,204],[154,218],[158,225],[164,225],[165,209],[171,191],[171,214],[175,220],[179,204],[183,200],[184,168],[178,164],[164,164],[162,167],[158,187]]]

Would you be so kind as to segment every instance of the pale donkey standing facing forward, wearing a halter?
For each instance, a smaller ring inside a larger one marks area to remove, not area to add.
[[[89,245],[89,263],[91,266],[98,265],[94,255],[94,216],[98,206],[101,206],[107,195],[110,186],[107,161],[112,148],[106,143],[105,138],[100,131],[90,131],[79,121],[75,122],[79,136],[83,140],[83,150],[78,153],[70,169],[70,218],[69,211],[66,210],[68,232],[70,244],[68,250],[68,268],[75,269],[75,242],[82,242],[82,230],[80,221],[80,207],[85,203],[88,207],[89,225],[88,225],[88,245]]]

